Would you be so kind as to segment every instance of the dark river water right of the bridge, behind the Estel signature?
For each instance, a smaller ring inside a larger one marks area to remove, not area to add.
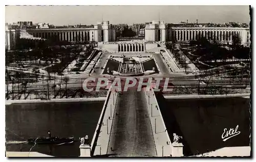
[[[223,147],[250,146],[250,99],[211,98],[166,100],[160,106],[170,139],[182,136],[186,156],[202,154]],[[224,129],[240,134],[223,141]]]

